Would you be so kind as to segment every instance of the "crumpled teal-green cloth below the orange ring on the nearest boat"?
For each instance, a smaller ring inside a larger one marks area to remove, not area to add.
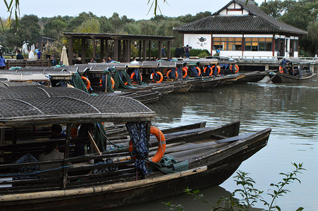
[[[170,155],[165,155],[159,162],[150,161],[152,167],[156,167],[161,172],[166,174],[182,172],[189,169],[189,161],[178,162]]]

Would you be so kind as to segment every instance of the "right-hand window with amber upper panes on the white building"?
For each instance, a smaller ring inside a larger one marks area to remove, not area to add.
[[[271,51],[271,38],[246,37],[245,51]]]

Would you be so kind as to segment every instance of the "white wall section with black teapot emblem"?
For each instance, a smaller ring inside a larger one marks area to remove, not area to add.
[[[211,53],[211,44],[211,34],[184,34],[184,45],[189,45],[192,49],[207,49]]]

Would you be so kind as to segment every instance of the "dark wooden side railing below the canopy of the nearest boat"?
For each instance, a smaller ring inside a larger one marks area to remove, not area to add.
[[[94,160],[94,161],[92,161]],[[129,153],[0,165],[0,194],[51,191],[135,179]]]

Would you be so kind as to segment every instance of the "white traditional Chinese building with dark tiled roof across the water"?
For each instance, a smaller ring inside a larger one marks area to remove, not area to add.
[[[207,18],[175,27],[192,49],[216,49],[221,56],[298,56],[298,38],[304,30],[281,23],[254,1],[232,0]]]

